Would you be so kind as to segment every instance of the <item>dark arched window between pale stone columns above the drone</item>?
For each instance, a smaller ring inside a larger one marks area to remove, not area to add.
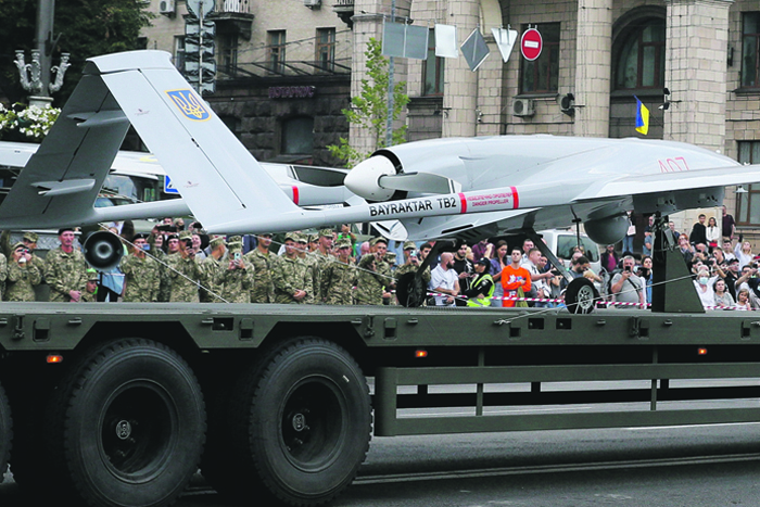
[[[630,27],[616,68],[618,90],[662,88],[664,86],[666,24],[661,18],[646,18]]]

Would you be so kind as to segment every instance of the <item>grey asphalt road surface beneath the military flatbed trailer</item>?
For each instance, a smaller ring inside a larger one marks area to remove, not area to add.
[[[760,422],[376,438],[332,505],[760,507],[759,433]],[[28,506],[9,479],[0,506]],[[200,476],[177,504],[228,505]]]

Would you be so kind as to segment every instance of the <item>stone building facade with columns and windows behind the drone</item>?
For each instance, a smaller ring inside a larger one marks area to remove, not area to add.
[[[154,23],[149,47],[179,58],[183,3],[177,1],[175,17],[163,15]],[[295,132],[308,125],[315,163],[335,163],[320,150],[345,132],[352,145],[371,151],[371,135],[346,125],[340,109],[367,77],[367,41],[382,38],[383,23],[393,14],[396,22],[431,33],[435,24],[455,25],[459,43],[479,29],[491,50],[477,72],[464,58],[435,58],[432,38],[428,60],[394,59],[394,79],[406,81],[410,97],[400,121],[408,127],[408,140],[641,137],[634,125],[637,97],[651,114],[648,138],[760,163],[760,1],[219,0],[217,12],[233,4],[245,7],[241,14],[250,16],[250,24],[232,29],[217,23],[219,78],[217,92],[207,99],[262,160],[288,155],[290,139],[301,139]],[[503,62],[491,35],[502,27],[520,34],[537,28],[541,56],[524,60],[518,41]],[[333,49],[320,52],[320,40],[334,40]],[[339,66],[320,71],[331,61]],[[303,93],[299,87],[308,86],[317,88],[311,105],[303,97],[273,97]],[[308,151],[307,143],[301,145]],[[747,236],[757,237],[760,185],[743,189],[746,193],[735,190],[726,189],[729,211]],[[676,228],[691,229],[697,213],[681,214]],[[720,216],[717,210],[707,213]]]

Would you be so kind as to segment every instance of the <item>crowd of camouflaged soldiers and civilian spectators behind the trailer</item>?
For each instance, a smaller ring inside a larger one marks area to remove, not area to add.
[[[760,308],[760,256],[748,241],[735,238],[725,207],[722,227],[705,215],[688,236],[675,231],[673,223],[669,226],[706,308]],[[646,306],[653,288],[651,227],[649,220],[641,254],[606,245],[599,272],[575,248],[570,276],[587,278],[604,301]],[[149,235],[135,235],[129,221],[111,230],[122,238],[125,255],[118,265],[98,271],[85,262],[73,229],[59,231],[61,245],[45,259],[34,254],[37,235],[27,232],[10,244],[4,232],[0,296],[35,301],[35,287],[47,283],[50,301],[74,303],[397,304],[397,280],[417,271],[435,243],[406,241],[401,252],[390,252],[382,237],[357,241],[347,224],[313,235],[208,237],[198,223],[186,228],[182,218],[167,217]],[[622,244],[630,246],[628,240]],[[530,239],[512,249],[503,240],[461,242],[455,252],[431,261],[420,276],[431,305],[552,307],[562,304],[568,287]]]

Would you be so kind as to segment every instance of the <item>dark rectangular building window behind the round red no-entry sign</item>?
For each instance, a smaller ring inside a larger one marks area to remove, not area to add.
[[[528,25],[522,27],[524,33]],[[549,93],[559,90],[559,23],[537,25],[544,41],[541,56],[532,62],[522,59],[520,93]]]

